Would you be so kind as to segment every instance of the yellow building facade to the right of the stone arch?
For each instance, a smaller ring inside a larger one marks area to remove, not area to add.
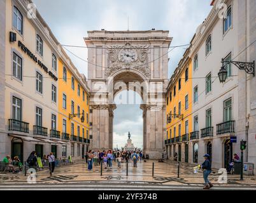
[[[167,157],[178,154],[178,160],[188,162],[189,133],[192,132],[192,60],[188,49],[167,86],[166,152]]]

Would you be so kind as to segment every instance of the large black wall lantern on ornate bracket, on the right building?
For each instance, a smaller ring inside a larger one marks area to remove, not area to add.
[[[220,72],[218,72],[218,79],[220,79],[220,82],[223,83],[227,79],[227,70],[225,69],[226,65],[229,65],[229,63],[232,63],[238,67],[240,70],[245,70],[246,73],[252,74],[253,77],[255,76],[255,61],[252,63],[248,62],[233,62],[233,61],[225,61],[224,58],[222,58],[222,67],[220,69]]]

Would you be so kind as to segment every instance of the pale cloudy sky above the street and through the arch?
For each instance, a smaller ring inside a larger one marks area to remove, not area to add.
[[[188,44],[211,10],[211,0],[34,0],[39,13],[61,44],[85,46],[88,30],[169,30],[172,46]],[[68,48],[87,60],[87,49]],[[169,76],[185,48],[169,53]],[[80,72],[87,63],[71,55]],[[114,146],[121,147],[131,131],[134,145],[142,145],[142,111],[139,105],[118,105],[115,110]]]

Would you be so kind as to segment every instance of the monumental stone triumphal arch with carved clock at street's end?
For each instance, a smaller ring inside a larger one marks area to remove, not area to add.
[[[168,31],[90,31],[89,48],[90,148],[113,148],[115,95],[132,89],[143,104],[143,150],[160,159],[166,134]],[[164,48],[161,48],[164,47]],[[151,49],[153,48],[153,49]]]

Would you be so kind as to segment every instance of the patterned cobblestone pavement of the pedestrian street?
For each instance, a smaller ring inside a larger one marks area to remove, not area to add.
[[[154,162],[154,174],[152,176],[152,164]],[[100,166],[93,166],[93,171],[87,170],[87,164],[84,161],[76,162],[68,166],[56,167],[52,176],[47,169],[36,173],[36,185],[79,185],[82,183],[103,184],[112,183],[142,185],[142,187],[190,187],[197,188],[203,185],[203,173],[194,174],[193,166],[190,164],[181,164],[180,177],[178,178],[178,164],[176,162],[157,162],[157,160],[148,160],[147,162],[138,162],[138,167],[133,167],[129,162],[128,176],[126,176],[126,163],[123,162],[121,168],[117,167],[117,162],[113,162],[112,169],[104,169],[101,176]],[[227,183],[218,182],[220,174],[213,171],[210,180],[216,187],[248,187],[256,189],[256,177],[244,176],[243,181],[239,181],[239,175],[228,175]],[[26,185],[28,175],[24,174],[0,174],[0,187],[4,185]],[[34,185],[34,184],[33,184]],[[34,186],[36,186],[34,185]],[[32,185],[31,185],[32,186]]]

